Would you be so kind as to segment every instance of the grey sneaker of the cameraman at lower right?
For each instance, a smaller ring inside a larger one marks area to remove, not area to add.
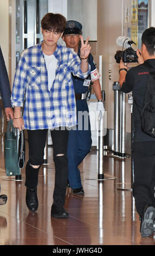
[[[155,218],[155,208],[146,205],[143,215],[141,215],[140,234],[141,236],[150,236],[154,232],[153,224]]]

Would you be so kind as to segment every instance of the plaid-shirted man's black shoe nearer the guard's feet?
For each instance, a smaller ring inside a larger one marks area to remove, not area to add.
[[[51,217],[55,218],[68,218],[69,214],[64,210],[63,205],[60,203],[53,203],[51,205]]]

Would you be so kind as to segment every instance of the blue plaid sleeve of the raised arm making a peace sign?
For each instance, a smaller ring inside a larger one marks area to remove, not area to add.
[[[70,68],[71,68],[72,74],[74,76],[78,76],[78,77],[81,77],[83,79],[87,78],[87,76],[91,72],[91,65],[88,64],[88,71],[85,72],[85,73],[82,73],[81,60],[80,60],[78,54],[76,54],[74,52],[74,50],[71,49],[71,48],[70,48],[69,60],[70,60]]]

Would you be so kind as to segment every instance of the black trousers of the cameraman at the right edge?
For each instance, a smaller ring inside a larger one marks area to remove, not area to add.
[[[133,142],[134,184],[133,196],[139,215],[145,205],[155,207],[155,142]]]

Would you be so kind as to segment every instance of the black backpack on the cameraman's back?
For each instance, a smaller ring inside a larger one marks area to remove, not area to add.
[[[144,64],[151,69],[148,74],[146,93],[144,97],[144,107],[141,113],[139,111],[137,102],[135,102],[134,99],[133,100],[140,113],[141,130],[147,133],[147,135],[155,138],[155,68],[149,63]]]

